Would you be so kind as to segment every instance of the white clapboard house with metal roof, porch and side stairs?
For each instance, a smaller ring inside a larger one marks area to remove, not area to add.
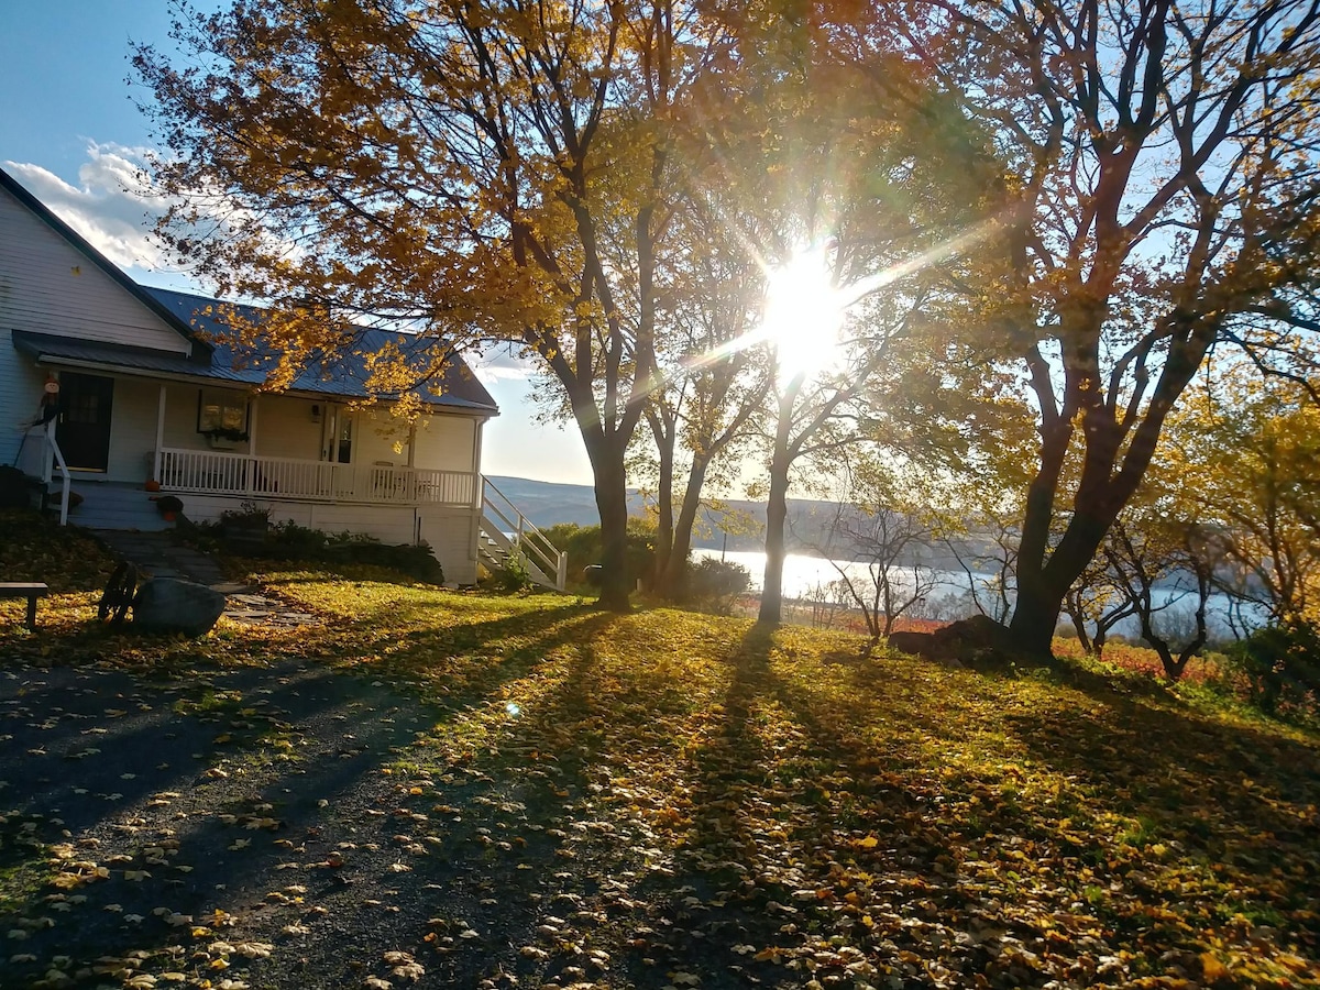
[[[0,170],[0,463],[15,465],[90,528],[170,525],[183,515],[269,510],[327,532],[432,546],[449,581],[519,552],[562,587],[562,554],[480,475],[482,428],[499,414],[461,358],[418,392],[414,422],[363,407],[360,354],[257,392],[269,355],[224,342],[214,300],[136,284]],[[248,310],[260,317],[259,310]],[[393,338],[363,330],[367,354]],[[67,492],[82,502],[71,510]]]

